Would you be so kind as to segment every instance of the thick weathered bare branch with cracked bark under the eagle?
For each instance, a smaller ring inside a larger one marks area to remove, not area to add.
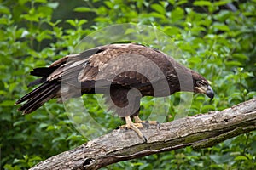
[[[195,149],[210,147],[255,129],[256,99],[251,99],[224,111],[210,111],[161,123],[160,128],[150,125],[141,130],[148,139],[146,143],[132,130],[113,130],[78,148],[41,161],[31,169],[98,169],[118,161],[186,146]]]

